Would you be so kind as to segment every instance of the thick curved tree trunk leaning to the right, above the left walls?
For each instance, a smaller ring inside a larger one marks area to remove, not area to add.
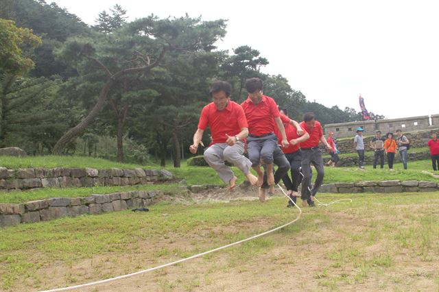
[[[67,143],[69,143],[73,138],[79,136],[86,130],[88,125],[90,125],[95,118],[97,117],[97,114],[99,114],[100,110],[104,106],[105,100],[108,95],[108,91],[110,90],[112,84],[113,84],[112,78],[108,78],[106,84],[104,85],[104,88],[102,88],[101,93],[99,93],[99,98],[97,99],[97,103],[91,110],[91,112],[88,113],[87,117],[85,117],[78,125],[75,125],[75,127],[72,127],[69,131],[67,131],[66,134],[64,134],[60,140],[56,143],[53,154],[60,155],[62,153],[62,150],[66,147]]]

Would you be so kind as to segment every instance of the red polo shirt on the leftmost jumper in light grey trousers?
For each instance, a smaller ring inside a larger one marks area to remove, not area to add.
[[[235,136],[241,132],[241,128],[248,127],[244,110],[235,101],[228,101],[224,110],[219,111],[211,102],[204,106],[200,115],[198,129],[206,130],[209,125],[212,133],[212,144],[226,143],[227,136]]]

